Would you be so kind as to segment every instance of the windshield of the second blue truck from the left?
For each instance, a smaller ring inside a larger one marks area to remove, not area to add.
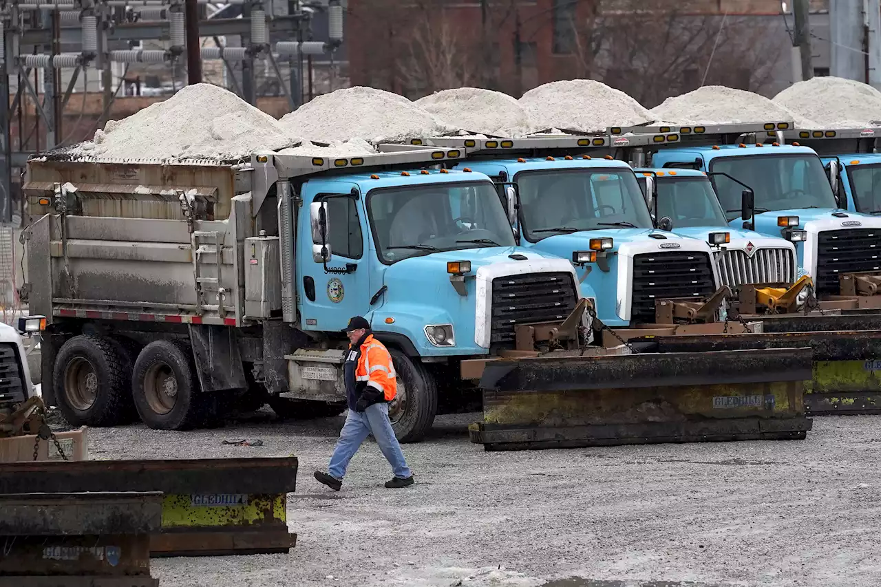
[[[523,236],[530,242],[554,234],[597,228],[651,228],[640,186],[629,169],[522,171]]]

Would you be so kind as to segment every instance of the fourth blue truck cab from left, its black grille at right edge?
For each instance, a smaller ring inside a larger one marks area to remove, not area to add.
[[[840,207],[810,147],[779,140],[664,145],[652,165],[707,172],[729,227],[796,241],[798,264],[821,300],[841,294],[841,275],[881,270],[881,218]]]

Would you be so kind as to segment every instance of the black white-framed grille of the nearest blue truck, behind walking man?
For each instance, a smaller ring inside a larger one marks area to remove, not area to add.
[[[564,320],[576,303],[571,273],[525,273],[492,279],[490,345],[514,348],[517,324]]]

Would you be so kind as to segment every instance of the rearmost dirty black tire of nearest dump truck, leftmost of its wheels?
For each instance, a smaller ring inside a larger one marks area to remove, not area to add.
[[[125,420],[131,402],[130,363],[110,338],[70,338],[58,350],[52,383],[70,426],[111,427]]]

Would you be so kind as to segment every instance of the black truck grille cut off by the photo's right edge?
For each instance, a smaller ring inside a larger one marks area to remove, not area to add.
[[[839,294],[839,275],[881,270],[881,229],[826,230],[818,234],[817,293]]]

